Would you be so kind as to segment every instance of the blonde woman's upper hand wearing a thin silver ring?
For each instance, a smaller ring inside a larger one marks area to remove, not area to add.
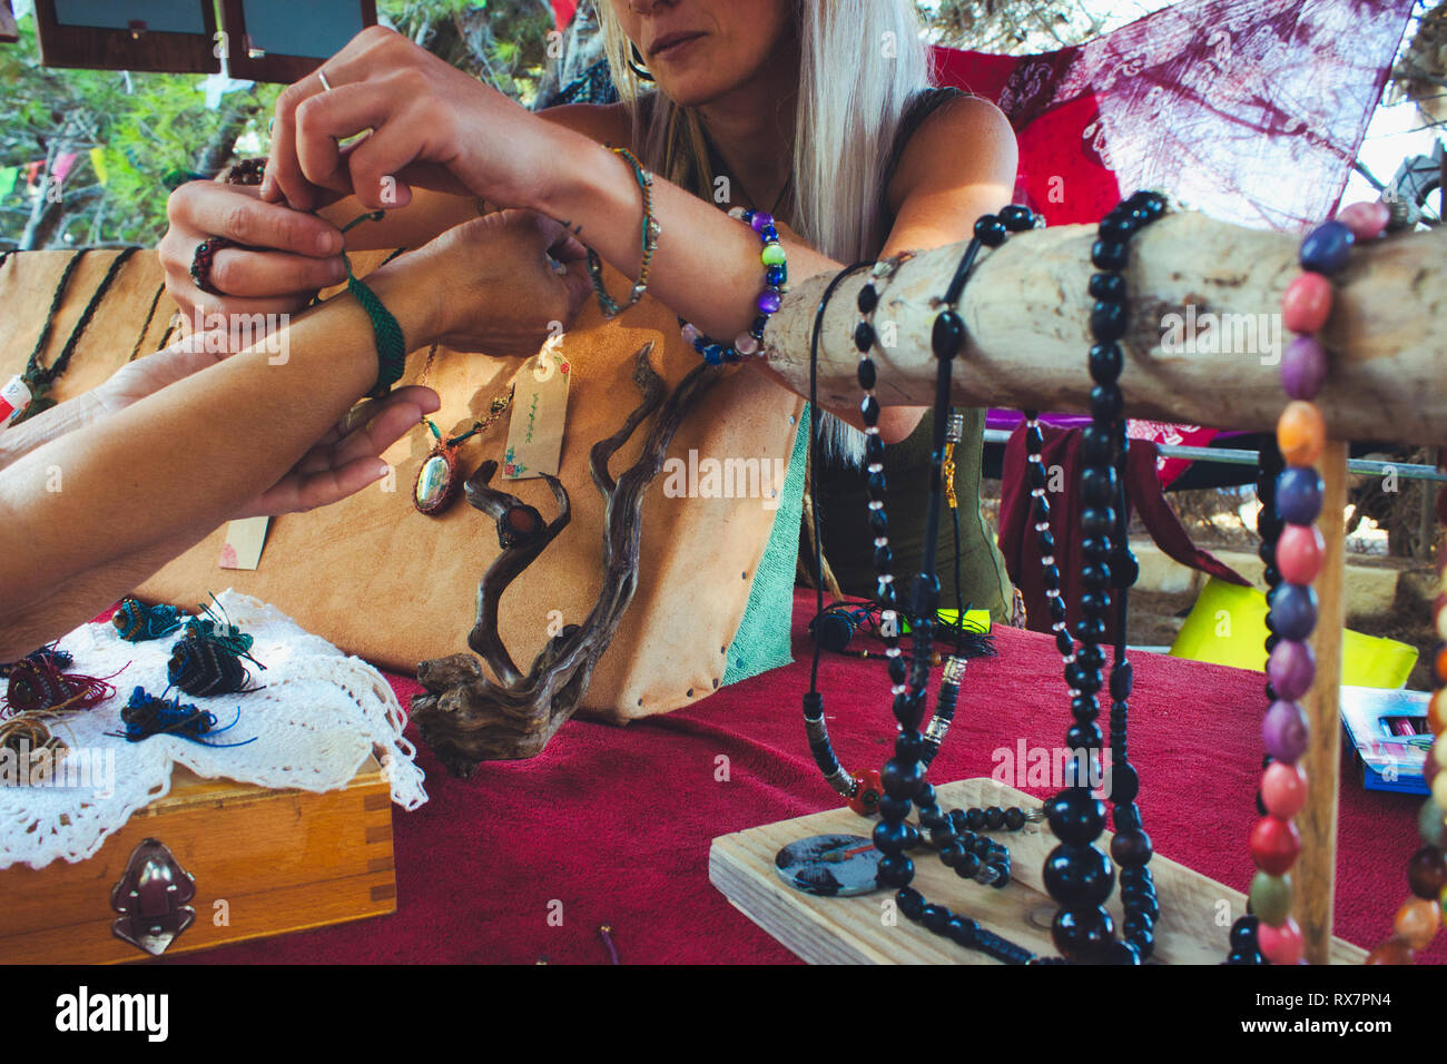
[[[407,206],[415,184],[531,207],[573,138],[592,143],[372,26],[278,97],[260,195],[305,211],[331,190],[386,208]]]

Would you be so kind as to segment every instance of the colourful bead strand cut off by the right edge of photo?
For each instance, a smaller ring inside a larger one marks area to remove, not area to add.
[[[1431,793],[1417,815],[1422,847],[1406,863],[1406,883],[1412,896],[1398,908],[1391,938],[1367,954],[1367,964],[1411,964],[1437,937],[1443,911],[1447,909],[1447,543],[1437,547],[1433,633],[1437,636],[1433,651],[1435,691],[1427,705],[1433,748],[1422,772]]]

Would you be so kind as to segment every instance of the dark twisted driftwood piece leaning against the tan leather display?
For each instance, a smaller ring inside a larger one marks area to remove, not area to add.
[[[498,599],[502,592],[567,527],[572,515],[567,489],[548,476],[559,515],[524,541],[504,546],[478,586],[478,622],[467,644],[482,654],[493,677],[483,673],[472,654],[437,657],[417,666],[417,679],[427,693],[412,699],[412,718],[423,741],[454,776],[470,776],[480,761],[541,753],[577,709],[598,659],[632,602],[638,586],[644,492],[663,468],[664,455],[683,418],[719,376],[718,369],[700,363],[667,394],[663,378],[648,363],[651,352],[650,342],[635,356],[634,384],[642,400],[618,431],[589,450],[593,484],[603,494],[606,507],[603,586],[587,617],[548,640],[525,676],[498,636]],[[608,472],[609,459],[654,413],[657,417],[638,460],[614,481]],[[495,463],[489,462],[467,481],[467,502],[502,520],[522,502],[489,486],[495,472]]]

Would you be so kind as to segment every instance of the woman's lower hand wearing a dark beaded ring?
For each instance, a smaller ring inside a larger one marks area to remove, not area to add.
[[[156,248],[166,291],[190,318],[203,314],[284,314],[307,305],[318,288],[346,279],[341,230],[330,221],[265,203],[256,188],[191,181],[166,200],[171,227]],[[191,279],[197,246],[224,236],[245,248],[223,248],[211,262],[213,295]]]

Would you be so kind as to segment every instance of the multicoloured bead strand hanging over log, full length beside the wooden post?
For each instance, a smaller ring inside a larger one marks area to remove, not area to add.
[[[1307,640],[1317,627],[1317,594],[1311,583],[1321,572],[1325,550],[1315,527],[1323,495],[1315,463],[1327,442],[1327,426],[1312,400],[1327,378],[1327,352],[1312,333],[1331,314],[1327,275],[1346,263],[1353,243],[1380,236],[1388,220],[1386,204],[1354,204],[1336,220],[1317,226],[1301,242],[1298,259],[1304,272],[1282,297],[1282,321],[1297,339],[1282,355],[1281,381],[1291,402],[1276,423],[1276,444],[1286,468],[1276,478],[1276,515],[1282,525],[1273,560],[1281,583],[1270,595],[1268,630],[1279,641],[1266,664],[1275,701],[1262,724],[1272,759],[1260,783],[1265,815],[1250,835],[1252,858],[1259,869],[1250,887],[1256,945],[1272,964],[1302,960],[1288,874],[1301,853],[1292,818],[1307,803],[1307,776],[1299,761],[1307,753],[1308,724],[1297,699],[1311,689],[1317,675]]]

